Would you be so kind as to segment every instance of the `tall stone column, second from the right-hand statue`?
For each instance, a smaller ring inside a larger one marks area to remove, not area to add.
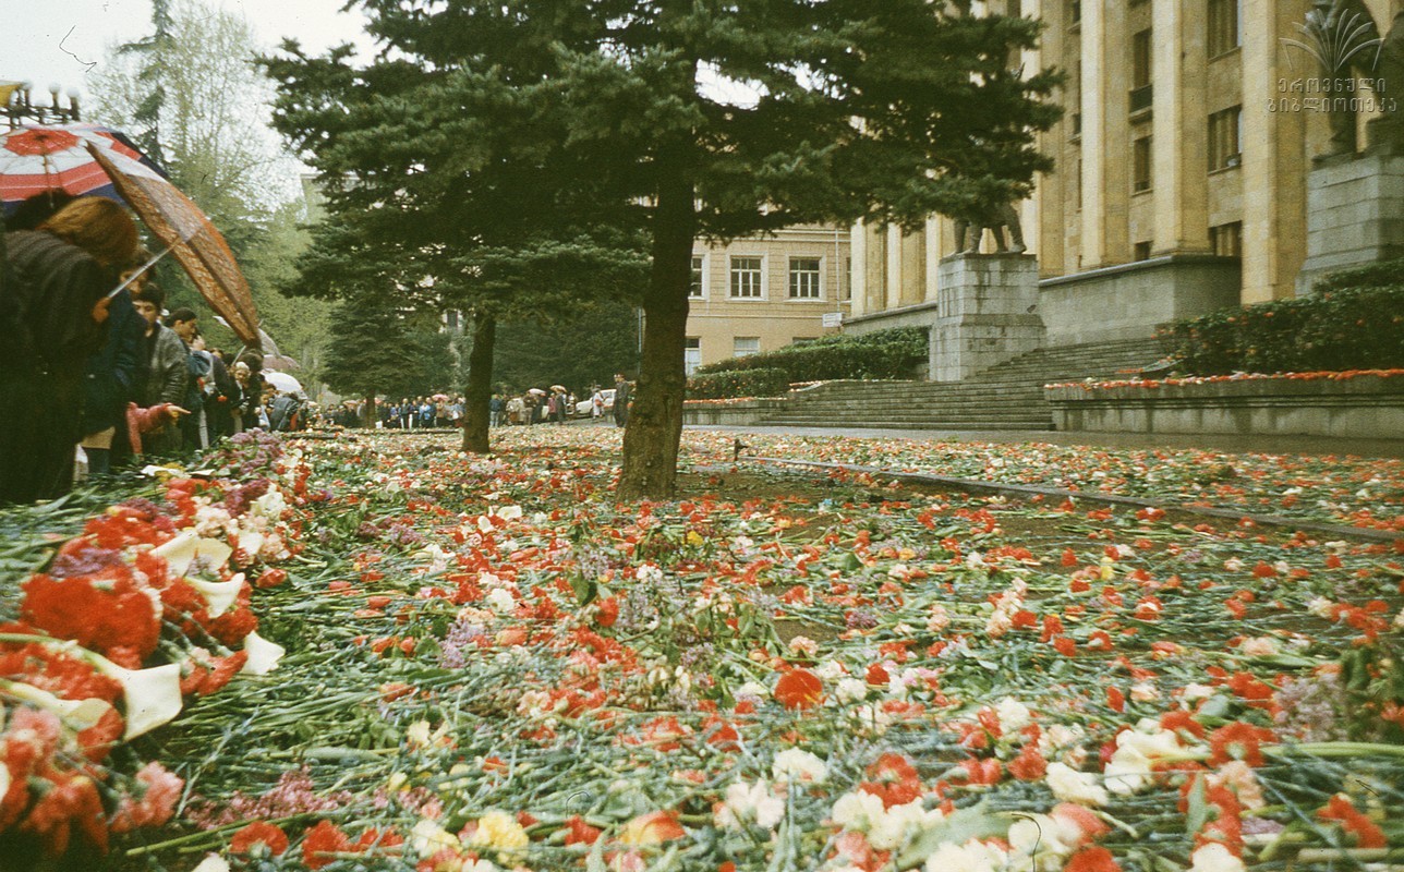
[[[1182,0],[1155,0],[1155,254],[1209,251],[1207,21]]]

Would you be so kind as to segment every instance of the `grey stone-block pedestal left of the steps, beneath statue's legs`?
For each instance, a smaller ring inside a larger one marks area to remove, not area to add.
[[[936,270],[932,381],[959,382],[1043,344],[1039,265],[1032,254],[955,254]]]

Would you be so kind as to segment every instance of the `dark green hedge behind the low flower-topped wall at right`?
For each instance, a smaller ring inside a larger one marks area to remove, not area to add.
[[[1189,375],[1404,368],[1404,260],[1337,272],[1311,296],[1175,322],[1163,340]]]

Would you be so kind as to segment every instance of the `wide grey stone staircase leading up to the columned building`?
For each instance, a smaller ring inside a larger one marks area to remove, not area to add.
[[[1043,385],[1127,378],[1163,352],[1154,340],[1039,348],[963,382],[826,382],[793,392],[764,427],[1053,430]]]

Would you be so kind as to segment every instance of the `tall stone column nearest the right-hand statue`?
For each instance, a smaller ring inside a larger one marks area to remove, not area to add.
[[[1294,293],[1304,257],[1303,112],[1271,112],[1285,76],[1280,37],[1296,37],[1306,0],[1243,0],[1243,302]]]

